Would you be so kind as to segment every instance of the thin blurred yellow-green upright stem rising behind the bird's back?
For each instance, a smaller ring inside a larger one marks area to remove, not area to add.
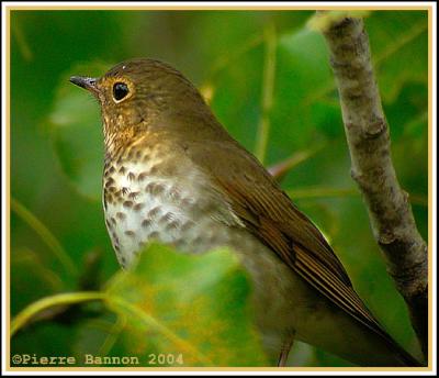
[[[263,63],[261,118],[259,121],[255,155],[263,163],[267,153],[268,136],[270,133],[270,111],[273,104],[274,74],[275,74],[275,30],[271,23],[264,30],[266,57]]]

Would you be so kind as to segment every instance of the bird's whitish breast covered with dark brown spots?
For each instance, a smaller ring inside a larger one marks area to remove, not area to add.
[[[238,222],[218,194],[205,190],[201,173],[167,155],[143,145],[105,162],[105,223],[123,267],[151,240],[191,253],[228,244],[222,224]]]

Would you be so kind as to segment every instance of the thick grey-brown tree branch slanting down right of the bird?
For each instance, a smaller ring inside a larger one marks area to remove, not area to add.
[[[427,245],[416,229],[408,194],[401,189],[392,164],[390,133],[363,21],[333,18],[322,32],[340,96],[351,175],[365,200],[387,271],[407,303],[412,325],[427,357]]]

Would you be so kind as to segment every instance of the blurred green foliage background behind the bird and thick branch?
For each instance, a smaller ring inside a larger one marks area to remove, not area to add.
[[[225,127],[249,151],[258,151],[266,166],[295,157],[299,163],[283,188],[328,237],[372,312],[402,345],[418,354],[405,304],[386,275],[350,178],[328,52],[322,35],[306,25],[312,15],[12,11],[11,315],[46,296],[99,289],[119,271],[100,200],[103,146],[98,104],[68,78],[99,76],[121,60],[153,57],[191,79],[210,98]],[[427,12],[375,11],[365,25],[394,165],[427,240]],[[263,111],[270,101],[272,107]],[[269,121],[267,134],[261,133],[261,120]],[[102,329],[116,322],[93,305],[70,310],[19,332],[11,353],[80,354],[86,344],[102,344]],[[87,323],[93,316],[95,322]],[[301,343],[290,363],[349,366]]]

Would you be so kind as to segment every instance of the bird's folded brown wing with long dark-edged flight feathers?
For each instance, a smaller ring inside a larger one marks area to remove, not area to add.
[[[209,143],[209,147],[198,144],[190,154],[213,176],[249,232],[326,298],[392,341],[353,290],[322,233],[254,156],[230,141]]]

